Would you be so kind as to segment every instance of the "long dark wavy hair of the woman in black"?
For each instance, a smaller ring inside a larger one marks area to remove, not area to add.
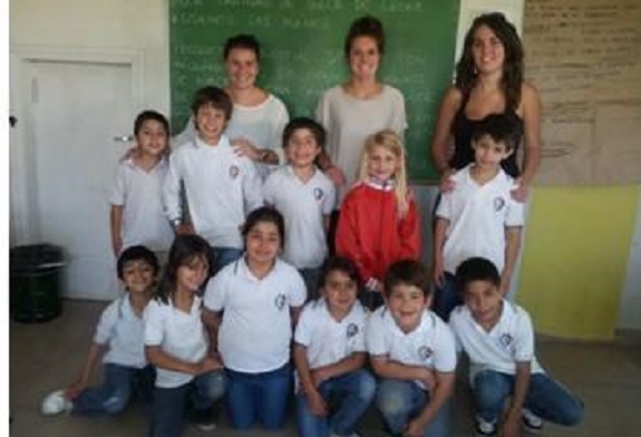
[[[476,86],[477,74],[472,47],[474,45],[474,36],[482,26],[492,29],[505,48],[501,85],[505,95],[506,107],[517,108],[521,103],[521,85],[523,84],[523,43],[521,38],[518,38],[518,33],[516,33],[516,28],[501,12],[484,13],[476,17],[473,21],[472,27],[465,35],[463,54],[456,65],[455,85],[466,98]]]

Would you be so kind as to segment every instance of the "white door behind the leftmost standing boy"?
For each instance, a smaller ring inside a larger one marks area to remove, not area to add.
[[[109,194],[133,130],[132,66],[29,61],[30,194],[38,241],[61,245],[67,297],[117,293],[109,237]]]

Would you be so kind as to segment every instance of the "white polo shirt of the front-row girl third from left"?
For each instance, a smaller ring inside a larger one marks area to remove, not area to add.
[[[275,370],[290,359],[290,307],[301,307],[305,284],[292,265],[276,260],[262,280],[242,258],[218,272],[205,290],[205,307],[223,311],[218,351],[225,367],[246,373]]]

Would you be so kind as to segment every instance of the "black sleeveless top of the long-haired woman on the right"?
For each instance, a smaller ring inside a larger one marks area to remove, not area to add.
[[[455,169],[460,169],[468,164],[474,163],[474,149],[472,148],[472,134],[474,129],[478,126],[480,120],[473,120],[467,118],[465,114],[465,108],[469,96],[465,96],[458,108],[458,111],[454,116],[454,122],[451,123],[451,133],[454,135],[454,156],[449,159],[449,166]],[[516,123],[519,124],[519,130],[523,132],[523,119],[516,114],[514,108],[506,108],[505,114],[508,117],[513,117]],[[521,143],[521,142],[519,142]],[[516,178],[521,175],[521,169],[516,164],[516,150],[509,155],[506,159],[501,163],[501,166],[509,176]]]

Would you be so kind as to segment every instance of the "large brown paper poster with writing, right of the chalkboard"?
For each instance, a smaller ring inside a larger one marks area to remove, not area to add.
[[[530,0],[526,78],[541,91],[543,185],[641,182],[641,2]]]

